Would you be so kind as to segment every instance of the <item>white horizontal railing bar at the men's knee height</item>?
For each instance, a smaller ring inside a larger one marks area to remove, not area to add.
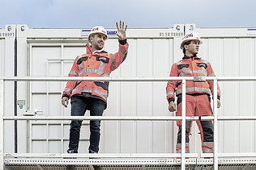
[[[109,120],[109,121],[176,121],[181,116],[3,116],[3,120]],[[186,120],[213,120],[213,116],[186,116]],[[218,116],[219,121],[256,120],[256,116]]]

